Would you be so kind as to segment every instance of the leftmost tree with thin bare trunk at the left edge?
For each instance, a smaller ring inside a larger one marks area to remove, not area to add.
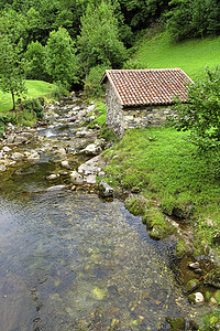
[[[0,34],[0,89],[3,93],[11,93],[13,110],[15,96],[26,92],[21,47],[13,43],[9,35],[2,34]]]

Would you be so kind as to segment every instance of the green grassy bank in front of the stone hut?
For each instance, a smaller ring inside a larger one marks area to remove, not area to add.
[[[212,245],[213,234],[220,231],[219,154],[198,154],[187,132],[148,127],[127,131],[106,158],[111,184],[125,191],[139,186],[146,199],[151,196],[168,213],[190,210],[198,246]]]

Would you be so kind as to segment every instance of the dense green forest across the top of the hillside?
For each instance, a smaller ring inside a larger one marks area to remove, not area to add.
[[[1,0],[0,12],[0,88],[13,100],[24,78],[97,92],[154,24],[175,41],[220,33],[218,0]]]

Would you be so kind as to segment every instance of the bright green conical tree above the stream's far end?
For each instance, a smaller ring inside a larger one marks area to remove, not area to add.
[[[46,44],[47,72],[53,82],[61,82],[68,87],[76,77],[76,55],[74,43],[67,30],[59,28],[52,31]]]

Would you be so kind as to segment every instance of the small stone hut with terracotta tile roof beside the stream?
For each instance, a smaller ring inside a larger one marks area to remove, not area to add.
[[[107,70],[107,124],[120,137],[134,127],[161,126],[172,116],[174,97],[185,103],[193,83],[180,68]]]

